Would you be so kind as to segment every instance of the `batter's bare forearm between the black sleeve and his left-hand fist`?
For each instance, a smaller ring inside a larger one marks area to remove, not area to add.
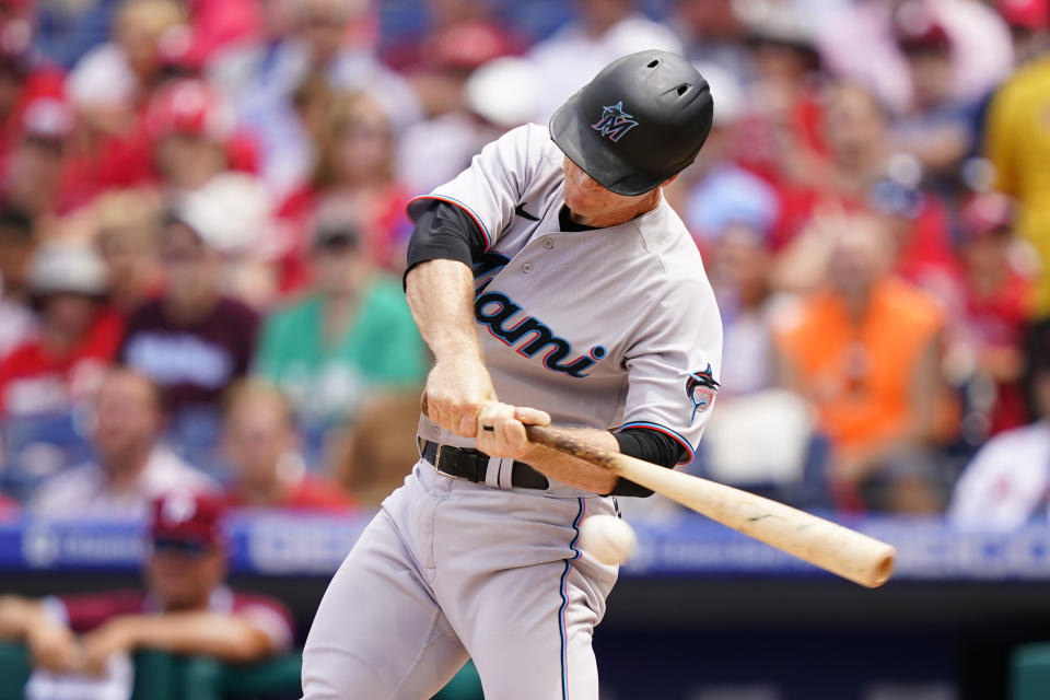
[[[474,275],[457,260],[428,260],[405,278],[419,331],[438,362],[481,358],[474,324]]]

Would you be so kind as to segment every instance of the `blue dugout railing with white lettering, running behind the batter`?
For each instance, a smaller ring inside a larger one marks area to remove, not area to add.
[[[368,524],[347,517],[241,513],[228,523],[231,570],[258,575],[330,575]],[[1010,534],[960,533],[936,518],[848,521],[898,548],[895,580],[1050,581],[1050,525]],[[825,576],[815,568],[700,516],[635,523],[639,548],[623,576]],[[131,572],[144,553],[129,522],[0,521],[2,571]]]

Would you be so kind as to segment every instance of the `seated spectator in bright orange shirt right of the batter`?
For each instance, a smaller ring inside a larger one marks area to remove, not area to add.
[[[942,493],[929,447],[944,395],[942,314],[890,275],[892,256],[879,220],[841,221],[826,289],[778,328],[781,381],[815,406],[843,505],[934,511]]]

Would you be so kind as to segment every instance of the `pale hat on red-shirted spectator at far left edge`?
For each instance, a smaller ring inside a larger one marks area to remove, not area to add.
[[[75,241],[54,241],[34,253],[26,281],[34,296],[102,296],[108,290],[106,278],[106,264],[94,246]]]

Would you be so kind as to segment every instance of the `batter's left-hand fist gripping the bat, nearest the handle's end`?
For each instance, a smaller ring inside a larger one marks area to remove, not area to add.
[[[489,371],[479,359],[438,361],[427,376],[427,415],[464,438],[475,438],[481,407],[495,400]]]

